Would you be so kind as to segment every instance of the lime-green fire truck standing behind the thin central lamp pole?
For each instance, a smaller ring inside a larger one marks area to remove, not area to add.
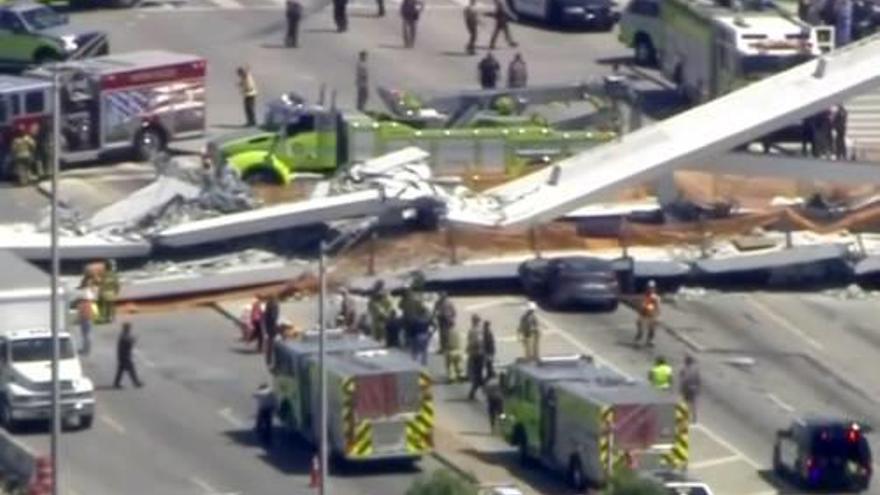
[[[328,332],[326,350],[327,429],[335,460],[417,460],[432,451],[434,405],[426,370],[363,336]],[[276,342],[274,356],[278,415],[316,445],[318,336]]]

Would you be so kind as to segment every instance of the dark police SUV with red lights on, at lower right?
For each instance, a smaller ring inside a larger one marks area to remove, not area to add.
[[[838,418],[807,418],[776,433],[773,470],[809,489],[864,491],[871,484],[867,425]]]

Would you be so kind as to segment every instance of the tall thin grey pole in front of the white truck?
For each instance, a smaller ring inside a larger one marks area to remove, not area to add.
[[[58,326],[61,315],[58,311],[58,282],[61,271],[61,261],[58,256],[58,155],[60,152],[61,134],[61,84],[59,82],[58,67],[53,67],[52,73],[52,212],[51,212],[51,256],[52,256],[52,308],[49,317],[52,319],[52,495],[58,495],[58,481],[60,471],[58,469],[58,444],[61,435],[61,386],[58,382],[58,361],[60,358],[60,342],[58,340]],[[45,146],[47,143],[40,143]]]

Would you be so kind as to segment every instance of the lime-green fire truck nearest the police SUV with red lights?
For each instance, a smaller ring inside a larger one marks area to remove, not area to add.
[[[577,490],[604,484],[623,462],[687,466],[687,406],[589,357],[518,360],[503,372],[501,390],[504,438],[523,461],[565,475]]]

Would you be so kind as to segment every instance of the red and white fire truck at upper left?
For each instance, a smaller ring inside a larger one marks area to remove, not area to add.
[[[133,154],[145,160],[169,142],[205,133],[202,57],[165,51],[108,55],[0,76],[0,164],[8,172],[17,132],[50,139],[58,74],[62,163]],[[36,126],[35,126],[36,124]]]

